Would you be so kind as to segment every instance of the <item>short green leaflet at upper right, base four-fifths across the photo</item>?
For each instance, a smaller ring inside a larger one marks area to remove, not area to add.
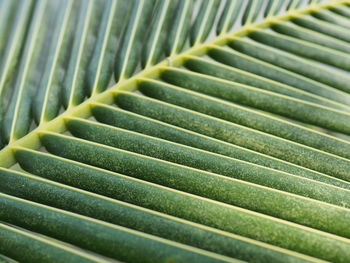
[[[299,40],[305,40],[334,50],[350,53],[349,43],[307,28],[302,28],[286,22],[274,23],[271,25],[271,28],[280,34],[285,34]]]

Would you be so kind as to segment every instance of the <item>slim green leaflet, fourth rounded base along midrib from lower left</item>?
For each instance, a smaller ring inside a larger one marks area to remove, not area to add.
[[[345,181],[119,108],[93,105],[92,112],[98,121],[115,127],[203,149],[350,190],[350,184]]]

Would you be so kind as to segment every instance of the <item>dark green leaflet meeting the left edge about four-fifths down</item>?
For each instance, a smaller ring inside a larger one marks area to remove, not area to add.
[[[0,207],[0,218],[5,222],[122,261],[235,262],[214,253],[1,193]]]

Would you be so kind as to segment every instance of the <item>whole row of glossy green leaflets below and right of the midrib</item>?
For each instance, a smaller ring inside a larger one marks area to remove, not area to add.
[[[277,13],[279,3],[265,4],[264,16]],[[23,170],[0,168],[4,260],[348,262],[350,7],[316,12],[208,44],[181,67],[163,63],[157,78],[134,77],[138,92],[113,88],[111,104],[88,100],[91,118],[63,115],[67,132],[34,131],[42,149],[12,146]],[[155,14],[161,21],[161,7]],[[79,17],[94,24],[89,12]],[[103,18],[113,31],[114,16]],[[152,29],[153,41],[163,29]],[[75,49],[90,50],[79,32]],[[204,31],[194,32],[202,42]],[[154,64],[156,50],[147,50],[143,63]],[[66,94],[82,98],[79,89]],[[67,108],[81,101],[68,97]]]

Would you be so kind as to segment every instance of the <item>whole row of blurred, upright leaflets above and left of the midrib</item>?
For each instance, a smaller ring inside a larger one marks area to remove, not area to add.
[[[0,148],[215,32],[222,36],[306,4],[201,0],[194,8],[193,0],[2,0]]]

